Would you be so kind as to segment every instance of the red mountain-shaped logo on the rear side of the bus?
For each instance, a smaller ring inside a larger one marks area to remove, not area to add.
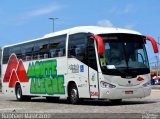
[[[9,87],[13,88],[17,81],[28,82],[26,77],[26,70],[24,68],[23,62],[20,59],[18,61],[15,54],[12,54],[8,60],[7,69],[4,75],[3,82],[9,82]]]

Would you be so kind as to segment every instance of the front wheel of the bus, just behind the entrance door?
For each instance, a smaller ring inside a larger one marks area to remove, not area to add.
[[[79,102],[79,94],[78,94],[78,89],[75,84],[73,84],[70,89],[69,89],[69,102],[71,104],[76,104]]]

